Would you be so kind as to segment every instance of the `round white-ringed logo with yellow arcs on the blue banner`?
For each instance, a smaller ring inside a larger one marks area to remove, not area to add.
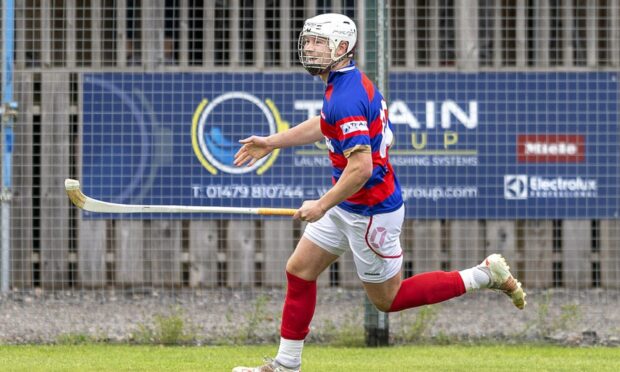
[[[218,170],[230,174],[256,171],[263,174],[280,153],[274,150],[251,167],[236,167],[234,155],[239,150],[240,138],[250,135],[271,135],[287,130],[276,105],[270,99],[264,102],[245,92],[230,92],[209,102],[202,100],[192,118],[192,148],[200,163],[209,173]]]

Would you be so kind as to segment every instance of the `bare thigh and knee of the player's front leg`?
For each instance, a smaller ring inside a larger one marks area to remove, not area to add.
[[[335,254],[327,252],[302,236],[293,255],[288,259],[286,271],[301,279],[312,281],[337,259],[338,256]]]

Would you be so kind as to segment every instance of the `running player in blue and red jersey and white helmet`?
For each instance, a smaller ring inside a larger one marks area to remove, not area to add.
[[[368,297],[384,312],[434,304],[478,288],[503,291],[523,309],[525,293],[498,254],[480,265],[401,278],[399,236],[404,206],[389,162],[393,135],[381,92],[353,61],[357,28],[348,17],[322,14],[306,20],[299,60],[326,83],[320,116],[269,137],[251,136],[235,165],[251,166],[277,148],[325,140],[333,165],[332,188],[304,201],[293,218],[310,222],[286,265],[280,347],[261,367],[233,372],[299,371],[304,339],[316,305],[316,279],[347,249]]]

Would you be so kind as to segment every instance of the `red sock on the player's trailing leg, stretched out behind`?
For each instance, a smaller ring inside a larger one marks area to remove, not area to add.
[[[390,312],[449,300],[465,293],[458,271],[432,271],[403,280]]]

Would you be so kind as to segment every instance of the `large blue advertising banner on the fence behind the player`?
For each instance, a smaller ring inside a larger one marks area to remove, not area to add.
[[[252,167],[232,164],[239,139],[320,112],[324,85],[305,73],[97,73],[82,81],[82,184],[91,197],[296,208],[331,186],[323,143],[274,151]],[[616,73],[395,72],[389,81],[390,160],[407,217],[618,218]],[[143,217],[159,216],[134,218]]]

